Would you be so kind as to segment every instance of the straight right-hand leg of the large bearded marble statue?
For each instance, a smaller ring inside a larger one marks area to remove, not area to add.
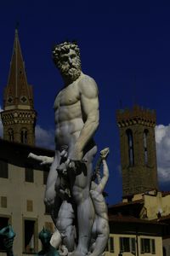
[[[92,148],[84,156],[85,163],[78,167],[76,175],[70,172],[71,192],[73,200],[77,204],[77,233],[78,244],[73,255],[83,256],[88,253],[90,245],[92,226],[94,224],[94,205],[89,194],[92,177],[92,160],[97,147]]]

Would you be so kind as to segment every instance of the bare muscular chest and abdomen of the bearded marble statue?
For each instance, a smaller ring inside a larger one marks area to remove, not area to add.
[[[59,92],[54,102],[55,111],[55,140],[60,146],[76,143],[77,137],[82,130],[82,112],[80,92],[75,81]]]

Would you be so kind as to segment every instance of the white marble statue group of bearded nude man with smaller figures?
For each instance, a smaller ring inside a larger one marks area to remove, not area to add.
[[[92,181],[97,153],[93,137],[99,125],[98,88],[94,79],[82,73],[77,43],[54,46],[53,56],[64,80],[64,89],[54,101],[55,155],[54,159],[35,154],[30,157],[42,165],[51,164],[44,199],[56,226],[51,244],[58,248],[61,243],[74,256],[97,256],[104,252],[109,234],[102,195],[109,172],[102,154],[99,166],[103,163],[104,177],[98,183]]]

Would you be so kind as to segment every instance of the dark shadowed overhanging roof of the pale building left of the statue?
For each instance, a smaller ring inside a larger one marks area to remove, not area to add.
[[[0,138],[0,160],[7,161],[9,164],[20,167],[31,167],[37,170],[44,170],[36,160],[28,158],[28,154],[54,156],[54,151],[47,148],[38,148],[23,143],[8,142]]]

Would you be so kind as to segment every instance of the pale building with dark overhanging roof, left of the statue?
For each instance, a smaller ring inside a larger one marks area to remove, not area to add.
[[[11,143],[0,139],[0,229],[11,224],[14,238],[14,255],[30,255],[42,249],[38,233],[43,227],[54,231],[48,209],[43,204],[48,169],[28,159],[30,152],[53,156],[44,148]],[[0,256],[4,253],[0,241]]]

